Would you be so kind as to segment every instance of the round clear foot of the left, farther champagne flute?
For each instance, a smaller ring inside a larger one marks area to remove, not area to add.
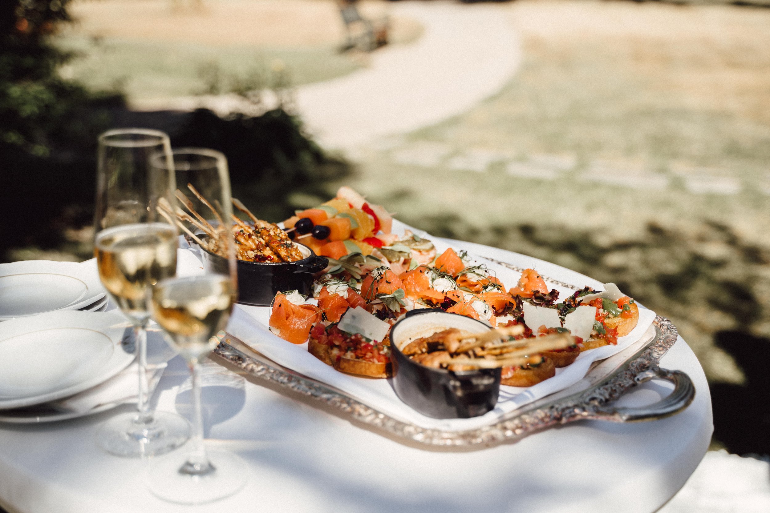
[[[148,424],[138,423],[137,418],[138,413],[110,418],[96,433],[97,445],[111,455],[139,458],[162,455],[190,438],[189,422],[176,413],[156,411]]]

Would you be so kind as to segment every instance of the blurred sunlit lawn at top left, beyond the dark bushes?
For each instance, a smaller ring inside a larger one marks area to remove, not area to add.
[[[382,16],[387,2],[368,0],[360,11]],[[235,82],[265,80],[276,60],[292,85],[346,75],[366,55],[340,53],[345,30],[333,0],[75,0],[75,23],[56,39],[75,52],[62,68],[93,89],[118,89],[129,101],[214,93]],[[391,19],[390,42],[409,43],[422,27]],[[264,88],[269,83],[261,85]]]

